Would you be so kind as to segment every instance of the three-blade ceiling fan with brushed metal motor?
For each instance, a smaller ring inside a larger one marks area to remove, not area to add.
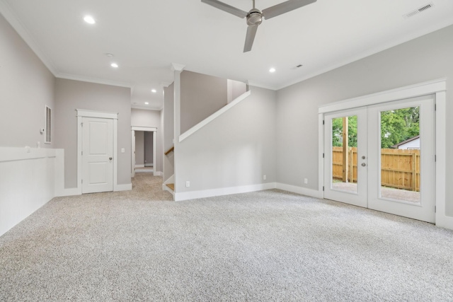
[[[288,11],[293,11],[296,8],[300,8],[302,6],[306,6],[308,4],[316,2],[316,0],[288,0],[275,6],[265,8],[263,9],[263,11],[260,11],[258,8],[255,8],[255,0],[253,0],[253,8],[250,11],[246,12],[218,0],[201,0],[201,1],[205,4],[209,4],[210,6],[219,8],[222,11],[231,13],[234,16],[238,16],[239,18],[247,18],[248,28],[246,35],[246,43],[243,46],[243,52],[251,51],[253,40],[255,40],[256,30],[258,30],[258,25],[260,25],[261,22],[263,22],[263,18],[265,19],[274,18],[276,16],[280,16],[282,13],[287,13]]]

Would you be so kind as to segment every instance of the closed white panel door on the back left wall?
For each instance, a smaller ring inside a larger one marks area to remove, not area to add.
[[[82,193],[113,191],[113,120],[84,117]]]

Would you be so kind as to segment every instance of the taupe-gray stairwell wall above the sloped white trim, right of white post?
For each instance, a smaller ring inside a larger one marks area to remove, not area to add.
[[[192,71],[181,73],[181,134],[227,103],[226,79]]]

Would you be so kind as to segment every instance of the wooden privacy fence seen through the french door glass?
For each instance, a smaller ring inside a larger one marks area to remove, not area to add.
[[[332,175],[343,179],[343,147],[332,147]],[[348,151],[348,182],[357,182],[357,147]],[[420,191],[420,150],[381,149],[381,185]]]

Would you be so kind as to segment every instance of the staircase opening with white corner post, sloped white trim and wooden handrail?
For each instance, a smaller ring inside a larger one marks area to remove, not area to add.
[[[233,80],[223,81],[223,79],[213,76],[183,71],[183,68],[183,65],[173,64],[174,81],[164,88],[164,147],[166,151],[164,152],[162,190],[170,192],[173,199],[178,194],[185,192],[183,186],[179,185],[180,192],[176,194],[175,187],[175,158],[177,155],[180,156],[180,153],[178,154],[180,152],[179,144],[251,95],[246,83]],[[200,86],[200,83],[211,89],[206,91],[204,86]],[[190,89],[188,89],[189,86]],[[212,87],[218,89],[212,90]],[[224,93],[226,95],[223,95]],[[225,96],[226,98],[224,98]],[[225,100],[226,105],[222,103]],[[207,107],[207,110],[194,111],[200,102],[210,102],[212,107]],[[175,151],[175,147],[178,151]],[[168,175],[171,176],[168,177]],[[180,183],[179,178],[178,183]]]

